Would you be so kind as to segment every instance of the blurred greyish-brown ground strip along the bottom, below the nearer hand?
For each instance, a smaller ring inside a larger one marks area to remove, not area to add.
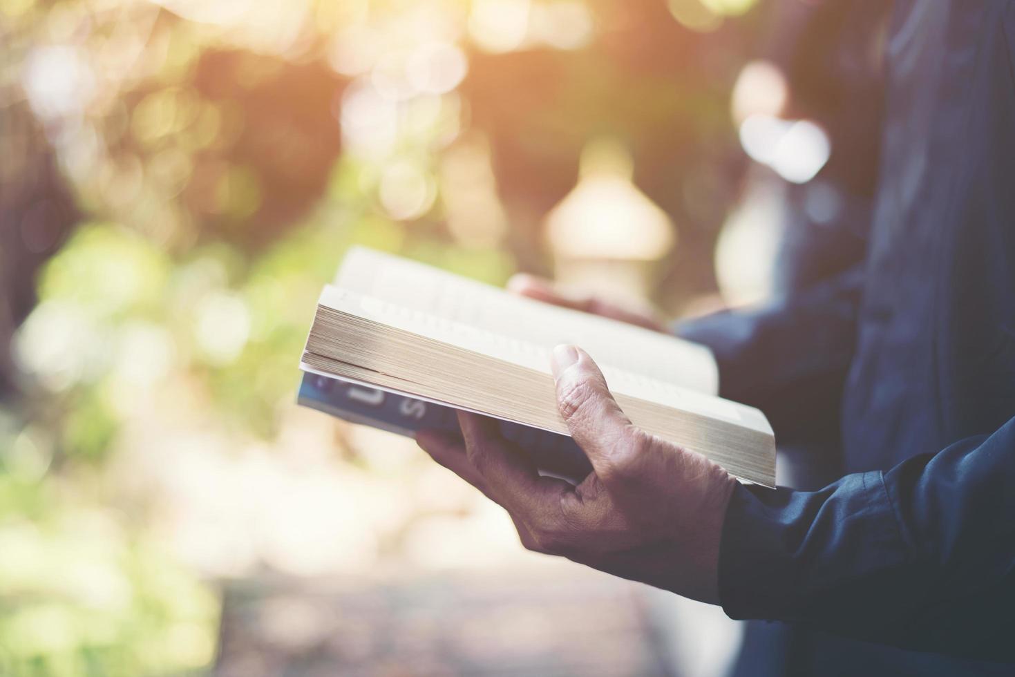
[[[552,568],[231,584],[215,675],[673,675],[644,589]]]

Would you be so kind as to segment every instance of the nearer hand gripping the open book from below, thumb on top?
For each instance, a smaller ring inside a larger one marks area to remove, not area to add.
[[[464,445],[420,432],[419,446],[502,505],[530,550],[718,603],[719,543],[735,480],[634,427],[585,351],[557,346],[553,375],[560,414],[594,469],[578,486],[540,476],[496,421],[475,414],[459,414]]]

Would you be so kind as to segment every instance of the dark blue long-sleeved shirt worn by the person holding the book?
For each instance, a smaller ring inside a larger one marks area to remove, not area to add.
[[[734,493],[720,592],[735,618],[1015,660],[1013,53],[1015,3],[896,2],[862,260],[680,330],[783,439],[841,400],[852,474]]]

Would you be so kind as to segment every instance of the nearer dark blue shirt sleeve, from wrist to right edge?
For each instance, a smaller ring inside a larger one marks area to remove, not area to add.
[[[1015,661],[1015,418],[820,491],[738,486],[720,597],[733,618]]]

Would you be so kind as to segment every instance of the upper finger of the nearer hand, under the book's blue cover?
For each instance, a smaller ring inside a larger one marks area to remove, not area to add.
[[[458,412],[469,461],[479,472],[494,500],[517,514],[526,524],[559,509],[563,491],[571,485],[561,479],[542,477],[536,465],[500,435],[491,418]]]

